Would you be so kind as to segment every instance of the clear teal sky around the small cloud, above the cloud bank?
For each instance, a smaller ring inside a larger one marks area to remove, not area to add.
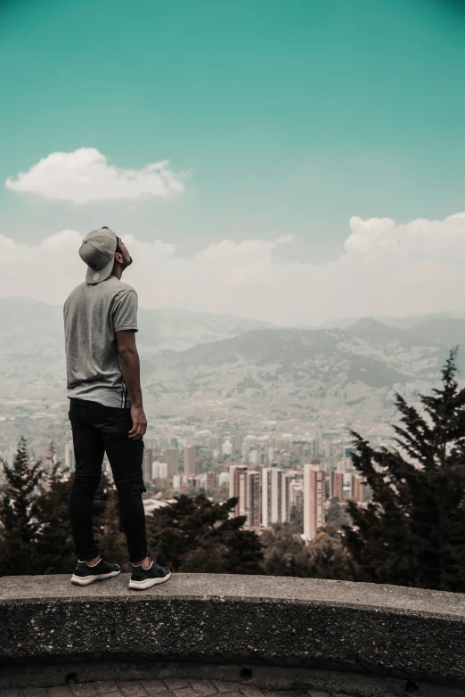
[[[92,205],[0,192],[0,233],[110,225],[189,255],[348,219],[465,210],[458,0],[0,0],[0,178],[51,152],[191,169],[182,196]],[[281,251],[280,251],[281,253]]]

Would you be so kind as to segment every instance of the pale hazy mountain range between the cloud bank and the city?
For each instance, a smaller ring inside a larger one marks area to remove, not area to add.
[[[387,323],[363,318],[346,328],[302,329],[141,309],[139,327],[151,412],[200,418],[245,411],[283,420],[323,410],[382,420],[393,389],[428,389],[450,348],[465,343],[465,316],[456,315],[388,318]],[[1,299],[0,359],[3,410],[22,399],[62,400],[61,307]]]

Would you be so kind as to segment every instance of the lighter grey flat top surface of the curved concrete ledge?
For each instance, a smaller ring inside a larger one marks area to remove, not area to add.
[[[177,599],[238,599],[238,600],[290,600],[292,602],[347,604],[357,608],[389,608],[396,611],[431,612],[433,614],[465,617],[465,594],[440,593],[422,588],[381,586],[371,583],[330,581],[318,578],[292,578],[275,576],[236,576],[234,574],[173,574],[161,586],[147,591],[132,591],[127,587],[129,576],[94,583],[90,586],[73,586],[69,576],[4,576],[0,578],[0,602],[4,600],[46,600],[58,598],[118,597],[139,599],[164,597]]]

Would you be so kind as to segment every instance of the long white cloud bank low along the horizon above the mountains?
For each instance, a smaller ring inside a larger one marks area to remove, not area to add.
[[[36,246],[0,235],[0,296],[62,302],[84,279],[77,255],[82,234],[63,230]],[[314,266],[277,258],[279,240],[223,240],[192,258],[175,246],[125,236],[134,258],[123,280],[141,307],[187,307],[280,324],[317,324],[332,317],[413,315],[462,310],[465,214],[444,221],[350,220],[341,256]]]

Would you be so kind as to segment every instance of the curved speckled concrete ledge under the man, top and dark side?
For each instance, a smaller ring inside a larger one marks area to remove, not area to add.
[[[0,677],[19,666],[124,661],[465,688],[462,594],[232,575],[175,574],[142,593],[127,582],[120,575],[79,588],[68,576],[0,578]]]

